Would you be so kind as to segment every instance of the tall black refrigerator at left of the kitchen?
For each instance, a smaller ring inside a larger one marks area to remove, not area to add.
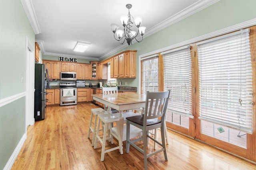
[[[35,100],[34,118],[35,121],[45,119],[46,104],[46,73],[44,64],[35,63]]]

